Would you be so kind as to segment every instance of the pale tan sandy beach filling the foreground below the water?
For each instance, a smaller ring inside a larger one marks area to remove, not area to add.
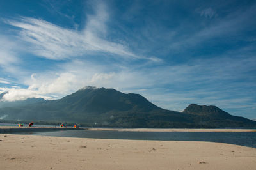
[[[0,169],[256,169],[256,149],[198,141],[0,134]]]

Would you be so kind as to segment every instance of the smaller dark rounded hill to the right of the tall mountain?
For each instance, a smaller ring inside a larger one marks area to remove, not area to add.
[[[232,116],[214,105],[190,104],[184,114],[197,116],[195,121],[202,124],[211,124],[216,127],[255,127],[256,121],[240,116]]]

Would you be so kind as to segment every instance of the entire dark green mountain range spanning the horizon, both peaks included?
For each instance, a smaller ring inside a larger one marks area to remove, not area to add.
[[[221,112],[221,109],[218,110],[218,107],[200,109],[201,106],[199,106],[198,109],[197,106],[189,105],[184,112],[169,111],[157,107],[138,94],[87,87],[60,100],[44,100],[19,107],[0,108],[0,118],[52,123],[65,121],[102,127],[256,127],[255,121],[237,116],[234,118],[224,111]],[[220,115],[226,115],[226,117]]]

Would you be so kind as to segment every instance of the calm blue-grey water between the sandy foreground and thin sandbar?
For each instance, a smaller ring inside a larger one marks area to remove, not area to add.
[[[31,135],[57,137],[81,137],[95,139],[136,139],[160,141],[209,141],[238,144],[256,148],[256,132],[118,132],[65,130],[56,132],[33,132]]]

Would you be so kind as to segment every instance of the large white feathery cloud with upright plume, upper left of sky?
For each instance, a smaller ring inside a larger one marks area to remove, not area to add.
[[[29,43],[30,52],[48,59],[65,60],[77,56],[86,58],[92,54],[100,54],[115,58],[160,60],[138,56],[125,45],[108,40],[107,11],[106,5],[99,3],[95,8],[95,15],[87,16],[86,25],[81,31],[31,17],[20,17],[18,20],[8,20],[7,23],[20,28],[20,39]]]

